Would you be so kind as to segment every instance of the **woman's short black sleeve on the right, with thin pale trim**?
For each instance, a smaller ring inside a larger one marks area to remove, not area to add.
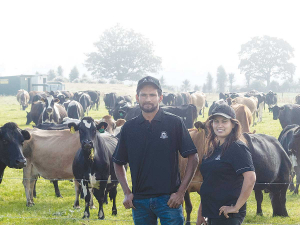
[[[232,166],[237,175],[255,171],[252,156],[247,146],[234,143],[231,155]]]

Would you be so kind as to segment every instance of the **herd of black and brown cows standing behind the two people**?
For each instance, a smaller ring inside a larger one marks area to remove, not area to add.
[[[206,96],[201,92],[163,93],[161,108],[181,117],[189,129],[202,159],[205,143],[205,122],[196,122],[199,114],[204,116],[207,106]],[[112,214],[117,214],[116,195],[118,181],[114,173],[111,157],[118,141],[118,133],[126,120],[140,114],[131,96],[108,93],[103,96],[109,115],[101,120],[88,117],[89,110],[99,109],[100,92],[69,91],[17,93],[20,108],[27,112],[27,123],[35,123],[33,129],[21,130],[15,123],[7,123],[0,128],[0,183],[6,166],[23,168],[23,184],[27,206],[34,204],[35,185],[38,176],[53,182],[55,193],[61,196],[57,181],[75,178],[76,199],[74,207],[79,207],[79,194],[85,198],[83,217],[89,217],[89,207],[94,195],[99,203],[98,218],[104,218],[103,203],[107,196],[113,200]],[[300,96],[296,104],[277,106],[277,95],[251,91],[248,93],[220,93],[208,115],[218,104],[229,104],[235,110],[242,125],[244,138],[252,154],[257,183],[254,187],[257,214],[262,214],[262,191],[270,193],[273,216],[288,216],[286,192],[298,194],[300,183]],[[251,125],[262,121],[265,104],[278,119],[282,132],[278,140],[269,135],[250,132]],[[86,115],[86,116],[85,116]],[[256,121],[257,117],[257,121]],[[195,123],[196,122],[196,123]],[[196,127],[196,128],[194,128]],[[181,176],[184,176],[186,159],[180,157]],[[201,163],[201,160],[200,160]],[[292,178],[296,175],[297,185]],[[192,204],[190,192],[200,190],[202,176],[197,170],[193,182],[185,195],[186,221],[190,220]],[[92,191],[90,189],[92,188]]]

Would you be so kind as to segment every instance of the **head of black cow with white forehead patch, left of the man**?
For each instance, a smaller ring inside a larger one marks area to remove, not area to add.
[[[68,127],[71,132],[73,129],[79,131],[81,148],[90,152],[95,147],[97,132],[104,132],[107,127],[106,122],[96,124],[94,119],[91,117],[84,117],[79,124],[69,123]]]

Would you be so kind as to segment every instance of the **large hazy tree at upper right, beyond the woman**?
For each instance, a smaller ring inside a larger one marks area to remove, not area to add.
[[[239,52],[239,69],[245,73],[247,81],[251,78],[267,81],[271,77],[291,78],[295,73],[295,65],[288,61],[294,57],[294,49],[276,37],[254,37],[241,46]]]

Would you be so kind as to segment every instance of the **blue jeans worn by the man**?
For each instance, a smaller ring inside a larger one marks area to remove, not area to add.
[[[170,208],[168,201],[170,195],[162,195],[156,198],[133,199],[132,216],[135,225],[156,225],[157,218],[162,225],[182,225],[184,217],[182,205]]]

